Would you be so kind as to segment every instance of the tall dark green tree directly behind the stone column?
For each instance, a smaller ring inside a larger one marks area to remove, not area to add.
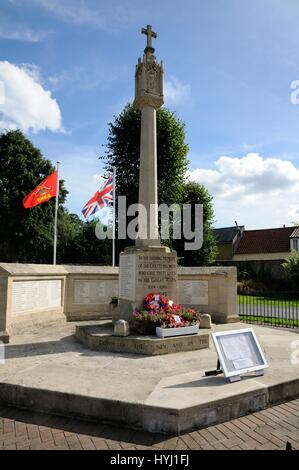
[[[109,123],[106,170],[117,168],[117,194],[127,204],[138,202],[141,113],[128,104],[114,123]],[[157,112],[159,201],[172,204],[182,191],[188,166],[185,124],[161,108]],[[171,177],[170,177],[171,175]]]

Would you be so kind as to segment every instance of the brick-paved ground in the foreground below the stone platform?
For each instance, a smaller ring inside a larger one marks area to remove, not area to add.
[[[299,449],[299,400],[180,437],[0,407],[0,450]]]

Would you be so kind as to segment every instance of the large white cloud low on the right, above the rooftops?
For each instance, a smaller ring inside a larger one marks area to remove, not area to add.
[[[275,227],[298,219],[299,170],[292,162],[249,153],[222,156],[215,167],[197,168],[189,177],[214,196],[217,226],[238,220],[247,228]]]

